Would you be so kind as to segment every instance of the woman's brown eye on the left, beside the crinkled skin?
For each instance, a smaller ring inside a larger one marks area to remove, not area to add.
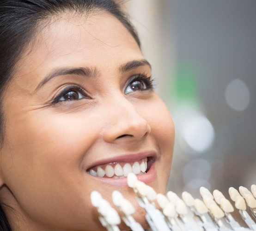
[[[90,97],[87,96],[84,89],[79,86],[68,86],[57,97],[55,97],[53,103],[63,102],[63,101],[75,101]]]

